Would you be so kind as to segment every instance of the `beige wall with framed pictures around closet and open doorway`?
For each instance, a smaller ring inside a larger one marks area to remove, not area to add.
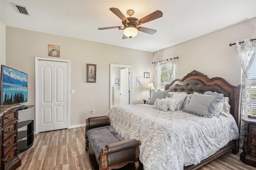
[[[48,44],[60,45],[60,58],[48,57]],[[133,66],[133,102],[142,104],[148,98],[146,85],[153,80],[136,77],[152,68],[153,53],[89,42],[63,36],[6,27],[6,65],[28,73],[28,102],[35,104],[35,57],[70,60],[70,125],[85,123],[85,119],[106,115],[110,108],[110,63]],[[86,83],[86,64],[96,64],[96,83]],[[153,68],[152,68],[153,69]],[[151,72],[152,74],[152,72]],[[92,109],[96,114],[92,114]],[[35,107],[19,112],[20,120],[35,119]]]

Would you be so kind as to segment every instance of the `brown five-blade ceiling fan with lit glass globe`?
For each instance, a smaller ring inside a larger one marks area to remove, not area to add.
[[[115,27],[98,28],[98,30],[108,30],[112,28],[118,28],[119,30],[124,30],[124,36],[122,37],[122,39],[135,37],[138,34],[138,31],[151,34],[151,35],[155,34],[156,30],[141,27],[140,25],[163,16],[163,13],[161,11],[156,10],[155,12],[138,20],[137,18],[131,17],[134,14],[134,10],[127,10],[127,14],[130,16],[128,18],[126,18],[124,14],[122,14],[122,12],[117,8],[110,8],[109,10],[112,11],[116,16],[118,16],[118,18],[122,20],[122,24],[124,28],[122,28],[123,26],[115,26]]]

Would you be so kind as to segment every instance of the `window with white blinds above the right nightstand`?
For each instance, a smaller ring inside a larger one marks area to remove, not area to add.
[[[253,52],[246,53],[248,61],[250,61]],[[256,115],[256,58],[254,59],[252,66],[249,69],[249,77],[252,99],[252,115]]]

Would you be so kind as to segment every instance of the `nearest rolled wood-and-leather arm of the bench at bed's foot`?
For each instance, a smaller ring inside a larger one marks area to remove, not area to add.
[[[113,144],[106,145],[102,148],[100,154],[100,170],[107,170],[111,167],[121,168],[128,163],[134,162],[135,169],[140,167],[140,140],[130,139]]]

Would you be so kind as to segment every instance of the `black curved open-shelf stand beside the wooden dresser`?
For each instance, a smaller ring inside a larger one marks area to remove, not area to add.
[[[34,105],[25,105],[20,107],[19,111],[31,107]],[[18,131],[18,154],[30,148],[34,142],[34,120],[18,122],[18,129],[25,126],[27,127],[26,130]]]

